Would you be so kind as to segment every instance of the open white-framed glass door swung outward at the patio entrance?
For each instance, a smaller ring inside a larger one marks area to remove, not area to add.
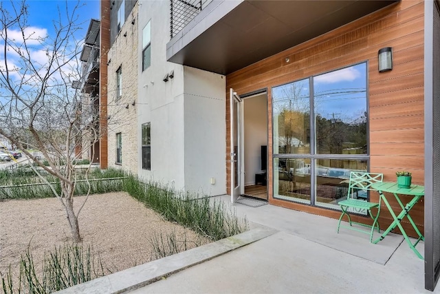
[[[244,193],[243,101],[230,89],[231,202]]]

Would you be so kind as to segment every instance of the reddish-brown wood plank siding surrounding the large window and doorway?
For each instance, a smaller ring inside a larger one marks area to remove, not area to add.
[[[226,167],[230,193],[229,89],[239,95],[267,88],[268,192],[270,204],[338,218],[340,213],[273,198],[271,89],[303,78],[368,61],[370,171],[395,181],[395,171],[412,171],[412,182],[423,185],[423,1],[402,0],[315,39],[228,74],[226,98]],[[377,52],[393,48],[393,70],[377,70]],[[289,62],[286,58],[289,57]],[[371,193],[377,201],[378,194]],[[393,198],[390,202],[399,210]],[[404,200],[408,200],[404,197]],[[412,211],[423,230],[423,201]],[[358,221],[369,222],[358,217]],[[382,207],[381,227],[392,221]],[[408,233],[413,232],[404,222]]]

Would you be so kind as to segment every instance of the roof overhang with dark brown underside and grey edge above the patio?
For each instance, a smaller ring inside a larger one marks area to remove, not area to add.
[[[166,58],[230,74],[398,1],[214,0],[168,42]]]

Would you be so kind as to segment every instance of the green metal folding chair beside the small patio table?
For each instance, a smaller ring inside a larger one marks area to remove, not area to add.
[[[338,223],[338,233],[340,227],[345,227],[347,229],[359,231],[361,233],[369,233],[370,242],[373,242],[374,230],[377,229],[377,231],[380,233],[379,222],[377,221],[377,219],[379,218],[381,199],[379,198],[379,203],[370,202],[368,200],[368,191],[374,190],[373,188],[371,188],[371,185],[373,185],[375,182],[382,182],[383,178],[384,178],[384,174],[372,174],[372,173],[351,171],[347,200],[342,200],[338,202],[342,210],[342,214],[339,218],[339,223]],[[373,215],[371,209],[376,209],[376,208],[377,208],[377,213]],[[369,224],[362,224],[361,222],[351,221],[351,217],[349,213],[355,213],[355,209],[358,209],[358,211],[366,210],[369,216],[373,219],[373,224],[369,225]],[[349,220],[349,226],[341,225],[342,218],[344,218],[344,216],[347,216]],[[353,224],[358,224],[362,227],[371,227],[371,230],[365,231],[358,227],[353,227]]]

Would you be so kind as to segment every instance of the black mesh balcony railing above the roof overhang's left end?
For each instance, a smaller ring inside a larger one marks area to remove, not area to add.
[[[170,37],[173,38],[212,0],[170,0]]]

